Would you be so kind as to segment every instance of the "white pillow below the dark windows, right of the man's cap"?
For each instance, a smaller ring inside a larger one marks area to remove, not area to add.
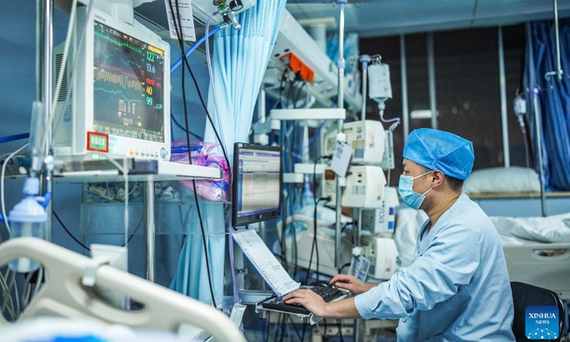
[[[475,170],[463,184],[467,195],[489,192],[540,192],[539,175],[527,167]]]

